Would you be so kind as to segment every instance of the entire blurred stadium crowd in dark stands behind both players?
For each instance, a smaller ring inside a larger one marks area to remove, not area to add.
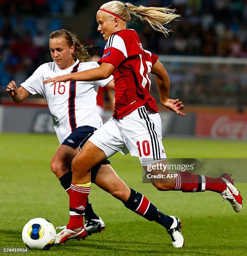
[[[23,81],[40,64],[51,60],[47,49],[47,35],[51,31],[66,28],[64,20],[78,14],[79,10],[89,3],[83,1],[82,6],[81,2],[79,0],[0,0],[2,56],[0,85],[5,87],[11,79],[17,83]],[[171,5],[171,8],[176,8],[177,13],[181,15],[178,21],[171,24],[173,33],[170,33],[168,38],[138,20],[129,26],[138,32],[144,48],[153,53],[247,57],[247,0],[132,0],[130,2],[144,6]],[[95,20],[92,19],[91,23],[90,34],[87,38],[81,38],[81,41],[84,44],[98,45],[92,49],[92,54],[102,55],[105,42],[97,32]],[[173,79],[173,73],[169,74]],[[177,76],[176,73],[175,78]],[[174,87],[175,95],[188,89],[183,87],[182,90],[181,86],[182,84],[177,84]],[[176,89],[177,87],[181,89]],[[194,97],[194,100],[190,99],[189,102],[201,102],[201,99],[195,99],[197,98]],[[205,99],[208,97],[205,96]],[[209,103],[208,100],[206,102]]]

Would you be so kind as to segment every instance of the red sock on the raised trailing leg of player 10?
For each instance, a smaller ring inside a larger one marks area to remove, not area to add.
[[[210,178],[190,172],[176,172],[175,187],[173,190],[183,192],[204,192],[205,190],[222,193],[226,189],[225,182],[219,178]]]

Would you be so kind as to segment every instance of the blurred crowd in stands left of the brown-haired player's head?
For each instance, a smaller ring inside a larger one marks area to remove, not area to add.
[[[48,35],[64,25],[89,0],[0,0],[0,88],[24,81],[51,60]]]

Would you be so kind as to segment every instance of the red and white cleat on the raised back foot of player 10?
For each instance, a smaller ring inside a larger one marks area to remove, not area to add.
[[[232,179],[230,174],[222,174],[222,180],[226,183],[226,189],[221,193],[223,201],[229,201],[235,212],[240,212],[242,210],[242,197],[240,192],[234,185],[234,179]]]

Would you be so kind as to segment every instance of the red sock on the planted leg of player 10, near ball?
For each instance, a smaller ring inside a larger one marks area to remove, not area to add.
[[[87,197],[91,189],[91,182],[87,184],[71,184],[69,193],[69,224],[68,229],[75,230],[83,227],[83,215],[85,213]]]

